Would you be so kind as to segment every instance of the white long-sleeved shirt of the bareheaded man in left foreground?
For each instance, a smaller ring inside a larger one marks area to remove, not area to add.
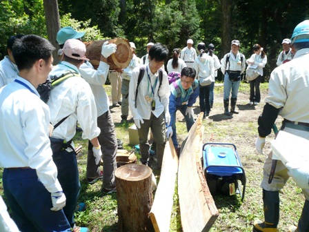
[[[48,138],[50,111],[29,81],[17,80],[26,86],[13,81],[0,89],[0,166],[36,169],[40,182],[56,193],[62,189]]]

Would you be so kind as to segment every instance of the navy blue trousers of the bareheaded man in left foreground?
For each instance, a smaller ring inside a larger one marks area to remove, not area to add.
[[[4,168],[3,190],[20,231],[71,231],[63,210],[50,210],[50,193],[39,182],[34,169]]]

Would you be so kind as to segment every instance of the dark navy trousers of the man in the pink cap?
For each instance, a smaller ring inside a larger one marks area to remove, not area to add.
[[[77,206],[77,199],[81,184],[79,183],[79,169],[77,168],[76,153],[74,151],[68,152],[66,150],[59,151],[52,154],[52,160],[58,169],[58,180],[66,195],[66,206],[63,212],[70,223],[74,226],[74,211]]]

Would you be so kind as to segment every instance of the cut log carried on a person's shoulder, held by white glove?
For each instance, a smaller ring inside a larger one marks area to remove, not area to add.
[[[97,69],[101,60],[102,45],[106,40],[84,42],[86,45],[86,57],[90,59],[92,66]],[[132,49],[128,39],[116,38],[108,40],[108,43],[117,45],[117,50],[114,54],[108,57],[110,69],[126,68],[129,66],[133,57]]]

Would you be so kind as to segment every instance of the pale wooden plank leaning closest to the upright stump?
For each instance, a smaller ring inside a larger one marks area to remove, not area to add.
[[[150,219],[156,232],[170,231],[170,215],[172,213],[177,170],[178,156],[170,138],[166,143],[160,181],[150,211]]]

